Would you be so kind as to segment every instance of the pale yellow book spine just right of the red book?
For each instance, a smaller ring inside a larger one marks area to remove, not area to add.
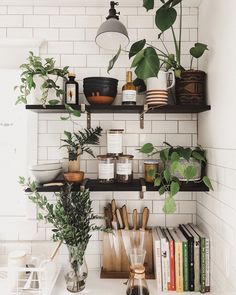
[[[183,292],[183,255],[181,243],[175,243],[176,292]]]

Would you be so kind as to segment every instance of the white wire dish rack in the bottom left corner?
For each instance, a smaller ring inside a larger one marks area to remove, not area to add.
[[[50,295],[60,270],[58,255],[38,260],[37,267],[0,267],[0,294]]]

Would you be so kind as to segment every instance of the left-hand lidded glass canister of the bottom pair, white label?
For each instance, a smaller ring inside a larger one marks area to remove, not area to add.
[[[115,157],[109,155],[99,155],[98,159],[98,179],[100,183],[112,183],[115,181]]]

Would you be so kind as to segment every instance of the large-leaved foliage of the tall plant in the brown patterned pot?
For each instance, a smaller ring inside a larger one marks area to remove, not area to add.
[[[157,77],[160,68],[166,70],[173,69],[176,77],[181,77],[181,72],[184,67],[181,64],[181,49],[182,49],[182,2],[183,0],[156,0],[160,2],[155,14],[155,24],[157,27],[157,39],[162,43],[162,48],[155,47],[148,44],[146,39],[139,40],[132,44],[128,51],[129,58],[132,58],[131,68],[138,79],[147,79],[149,77]],[[143,0],[143,7],[147,11],[154,9],[154,0]],[[176,6],[179,6],[179,34],[177,36],[174,24],[177,20]],[[170,30],[175,46],[175,52],[169,52],[163,41],[163,33]],[[192,69],[193,58],[200,58],[204,52],[208,50],[207,45],[203,43],[196,43],[190,49],[191,61],[190,69]],[[116,55],[110,60],[108,72],[114,67],[122,49],[119,48]]]

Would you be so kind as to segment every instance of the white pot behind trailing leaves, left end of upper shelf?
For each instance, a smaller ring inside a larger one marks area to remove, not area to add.
[[[64,78],[59,77],[57,75],[48,75],[48,77],[53,80],[60,89],[64,90]],[[30,96],[27,99],[28,104],[42,104],[42,85],[45,82],[45,79],[40,77],[39,75],[34,76],[34,82],[36,84],[36,88],[31,90]],[[46,98],[46,104],[48,105],[49,100],[59,100],[60,104],[62,104],[63,95],[57,97],[56,91],[54,89],[49,89],[48,95]]]

